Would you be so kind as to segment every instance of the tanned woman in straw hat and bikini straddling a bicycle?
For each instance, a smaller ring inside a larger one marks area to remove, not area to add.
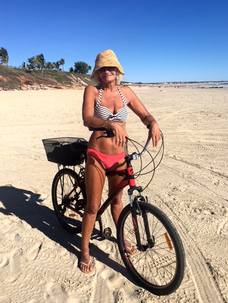
[[[125,130],[128,107],[140,117],[145,125],[150,125],[149,138],[153,146],[160,139],[158,124],[147,111],[134,92],[127,86],[119,87],[124,75],[123,68],[111,50],[98,54],[91,78],[98,86],[88,85],[84,91],[82,118],[84,126],[105,127],[112,129],[115,137],[101,137],[103,131],[92,133],[87,151],[85,166],[85,182],[87,204],[82,220],[82,247],[79,268],[82,272],[91,274],[94,265],[89,256],[89,239],[95,224],[97,211],[100,207],[102,190],[105,182],[105,172],[125,169],[125,153],[123,146],[127,143]],[[120,176],[108,176],[109,193],[120,182]],[[111,215],[115,225],[123,209],[122,192],[111,203]],[[126,241],[126,251],[133,255],[135,247]]]

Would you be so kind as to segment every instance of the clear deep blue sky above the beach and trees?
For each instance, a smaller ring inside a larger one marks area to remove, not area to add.
[[[125,81],[228,80],[228,1],[0,0],[9,65],[43,54],[64,70],[113,50]]]

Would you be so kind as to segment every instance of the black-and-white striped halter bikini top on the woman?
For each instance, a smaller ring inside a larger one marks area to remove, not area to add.
[[[120,90],[120,88],[117,86],[120,96],[123,100],[124,106],[118,110],[117,113],[112,113],[108,108],[101,105],[101,94],[102,94],[102,87],[99,90],[99,97],[98,102],[94,107],[94,117],[102,119],[102,120],[108,120],[108,121],[116,121],[123,123],[127,120],[128,117],[128,110],[127,110],[127,103],[126,100]]]

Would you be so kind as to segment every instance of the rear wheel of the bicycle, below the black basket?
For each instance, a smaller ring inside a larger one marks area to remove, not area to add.
[[[81,232],[85,201],[84,179],[71,169],[61,169],[53,179],[52,203],[60,224],[72,234]]]

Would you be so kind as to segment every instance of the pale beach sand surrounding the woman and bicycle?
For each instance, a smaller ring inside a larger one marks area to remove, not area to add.
[[[68,234],[55,217],[57,165],[47,161],[41,139],[89,138],[81,119],[83,90],[1,91],[1,303],[227,301],[228,90],[133,90],[164,134],[164,158],[145,192],[183,240],[183,283],[169,296],[151,294],[132,281],[115,241],[96,237],[90,246],[96,274],[79,270],[81,235]],[[133,113],[127,131],[142,142],[147,133]],[[104,222],[116,237],[109,212]]]

